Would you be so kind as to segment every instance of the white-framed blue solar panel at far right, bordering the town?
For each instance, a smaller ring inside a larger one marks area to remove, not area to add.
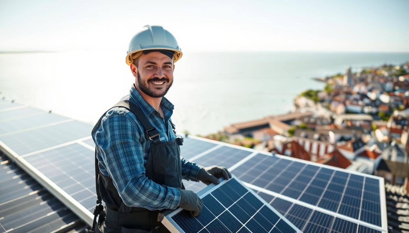
[[[232,172],[259,190],[382,226],[378,179],[263,154]]]

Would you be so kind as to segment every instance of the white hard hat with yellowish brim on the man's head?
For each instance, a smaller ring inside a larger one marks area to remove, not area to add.
[[[145,29],[146,28],[146,29]],[[175,37],[162,26],[145,25],[142,31],[133,36],[129,42],[126,55],[126,64],[130,65],[134,59],[142,55],[144,50],[148,49],[166,49],[174,51],[173,62],[182,57],[182,51],[178,46]]]

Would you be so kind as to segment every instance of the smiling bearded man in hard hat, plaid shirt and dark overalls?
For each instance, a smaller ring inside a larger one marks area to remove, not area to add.
[[[202,200],[184,190],[182,178],[206,184],[231,178],[224,167],[201,167],[180,157],[183,138],[175,134],[173,104],[164,95],[181,57],[175,38],[161,26],[146,25],[129,44],[126,63],[135,83],[92,130],[97,194],[106,204],[102,211],[99,198],[94,211],[101,214],[99,231],[166,232],[157,222],[160,210],[181,207],[194,216],[202,210]]]

